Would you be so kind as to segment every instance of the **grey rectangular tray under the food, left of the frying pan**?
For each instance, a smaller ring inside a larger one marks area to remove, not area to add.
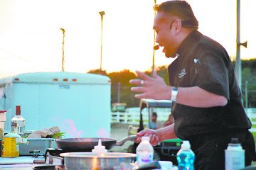
[[[19,145],[20,155],[45,154],[48,148],[57,148],[53,138],[28,138],[28,145]]]

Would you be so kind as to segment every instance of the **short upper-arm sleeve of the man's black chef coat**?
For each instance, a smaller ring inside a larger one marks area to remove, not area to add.
[[[194,59],[196,59],[193,62],[198,74],[198,86],[229,100],[229,56],[225,50],[204,47],[203,50],[201,48],[196,52]]]

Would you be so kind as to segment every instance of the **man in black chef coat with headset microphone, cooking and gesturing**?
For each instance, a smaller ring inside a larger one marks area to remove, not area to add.
[[[130,80],[136,98],[173,101],[174,123],[157,130],[142,130],[152,145],[180,138],[189,140],[196,154],[195,169],[225,169],[225,149],[237,137],[245,149],[245,165],[256,159],[252,124],[242,106],[242,94],[235,79],[228,52],[215,40],[198,31],[198,21],[186,1],[166,1],[154,6],[156,43],[166,57],[169,84],[154,70],[152,77]],[[210,21],[209,21],[210,22]]]

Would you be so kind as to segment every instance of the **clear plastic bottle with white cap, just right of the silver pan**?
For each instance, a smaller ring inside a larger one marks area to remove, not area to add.
[[[136,149],[138,166],[153,162],[154,148],[149,143],[149,140],[149,137],[142,137],[142,142],[140,142]]]

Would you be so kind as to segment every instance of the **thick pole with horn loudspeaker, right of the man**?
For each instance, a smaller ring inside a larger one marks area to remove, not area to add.
[[[247,47],[247,41],[240,42],[240,0],[237,0],[237,40],[236,40],[236,58],[235,58],[235,77],[238,81],[238,86],[242,88],[242,78],[241,78],[241,59],[240,59],[240,46]]]

